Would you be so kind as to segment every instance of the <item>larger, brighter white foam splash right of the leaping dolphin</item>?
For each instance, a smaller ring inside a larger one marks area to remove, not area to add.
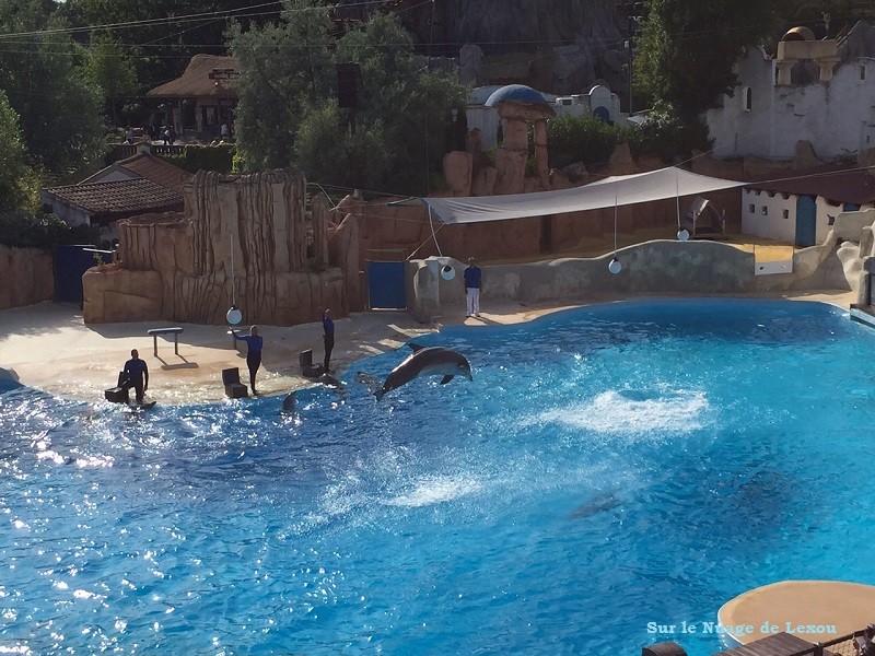
[[[583,403],[547,410],[539,420],[609,435],[690,433],[704,426],[709,408],[702,391],[609,390]]]

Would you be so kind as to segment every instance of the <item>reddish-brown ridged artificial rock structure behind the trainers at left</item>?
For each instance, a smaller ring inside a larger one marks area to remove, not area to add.
[[[85,321],[221,325],[232,302],[246,324],[306,324],[326,308],[346,316],[345,272],[328,266],[327,215],[315,212],[308,225],[305,188],[294,171],[199,172],[184,188],[183,215],[119,222],[120,266],[83,276]]]

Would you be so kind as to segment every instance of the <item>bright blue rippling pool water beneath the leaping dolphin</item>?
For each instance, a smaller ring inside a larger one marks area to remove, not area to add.
[[[162,407],[0,390],[0,652],[640,654],[875,584],[875,331],[684,300],[419,340],[475,382]]]

